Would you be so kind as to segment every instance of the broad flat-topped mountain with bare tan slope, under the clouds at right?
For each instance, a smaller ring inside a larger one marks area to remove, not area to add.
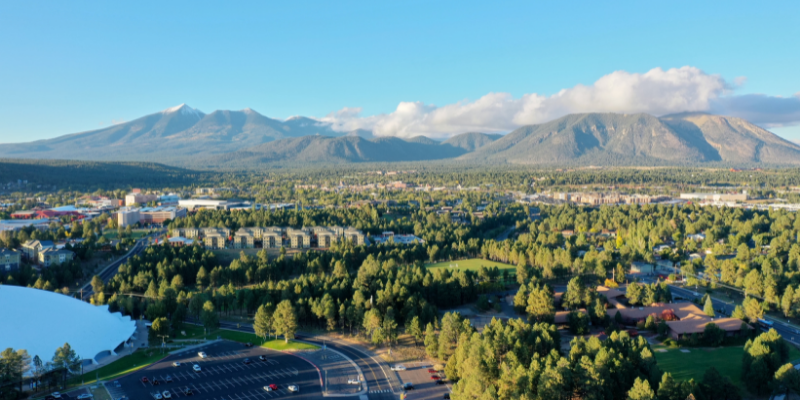
[[[800,146],[737,118],[575,114],[514,130],[461,157],[514,164],[800,164]]]

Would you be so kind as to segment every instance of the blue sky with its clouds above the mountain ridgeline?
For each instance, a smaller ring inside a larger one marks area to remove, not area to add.
[[[0,2],[0,143],[186,103],[444,138],[703,111],[800,140],[800,2]]]

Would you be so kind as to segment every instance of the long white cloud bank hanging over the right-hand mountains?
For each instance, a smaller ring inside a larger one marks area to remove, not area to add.
[[[489,93],[475,101],[435,106],[423,102],[401,102],[388,114],[361,116],[361,108],[343,108],[322,121],[333,129],[372,130],[376,136],[444,138],[459,133],[507,132],[519,126],[550,121],[573,113],[617,112],[665,115],[684,111],[724,110],[728,115],[750,116],[769,125],[800,122],[800,104],[775,97],[731,96],[745,83],[738,77],[729,84],[722,77],[695,67],[646,73],[615,71],[589,86],[577,85],[551,96],[537,93],[514,98],[509,93]],[[780,103],[781,108],[774,106]]]

